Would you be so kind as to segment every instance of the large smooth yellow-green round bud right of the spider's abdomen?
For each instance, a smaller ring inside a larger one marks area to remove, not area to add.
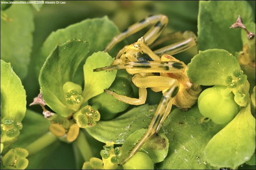
[[[217,124],[227,124],[238,114],[240,108],[234,101],[234,94],[223,96],[226,86],[215,85],[204,90],[198,98],[200,113]]]

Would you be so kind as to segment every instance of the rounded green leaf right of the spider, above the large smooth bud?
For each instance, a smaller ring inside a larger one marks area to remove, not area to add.
[[[228,75],[233,77],[234,70],[241,70],[236,58],[226,50],[209,49],[199,51],[188,64],[190,80],[200,85],[224,85]]]

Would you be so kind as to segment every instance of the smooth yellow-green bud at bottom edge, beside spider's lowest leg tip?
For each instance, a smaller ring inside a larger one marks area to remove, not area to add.
[[[142,152],[137,152],[126,164],[124,169],[154,169],[151,158]]]

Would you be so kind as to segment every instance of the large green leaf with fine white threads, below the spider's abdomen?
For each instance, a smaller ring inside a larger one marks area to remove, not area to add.
[[[201,117],[197,105],[188,112],[175,109],[169,114],[161,127],[170,143],[162,169],[217,169],[204,162],[203,150],[223,125],[201,124]]]

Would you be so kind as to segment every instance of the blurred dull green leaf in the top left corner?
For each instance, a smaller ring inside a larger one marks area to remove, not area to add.
[[[9,22],[1,21],[1,60],[11,62],[22,80],[27,75],[34,31],[33,12],[28,4],[12,4],[4,11]]]

